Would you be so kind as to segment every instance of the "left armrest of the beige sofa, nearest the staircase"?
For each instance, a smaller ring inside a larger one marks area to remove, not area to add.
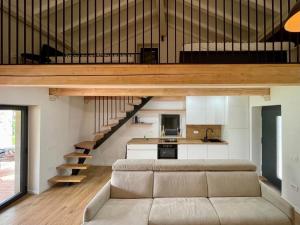
[[[101,188],[95,197],[85,207],[83,223],[91,221],[105,202],[110,198],[110,180]]]

